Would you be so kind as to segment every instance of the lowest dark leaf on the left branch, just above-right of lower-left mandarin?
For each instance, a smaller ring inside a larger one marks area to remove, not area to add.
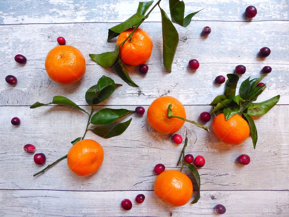
[[[132,121],[132,118],[130,118],[128,121],[123,122],[123,123],[101,125],[90,130],[96,135],[107,139],[107,138],[115,137],[115,136],[122,134],[126,130],[126,128],[129,126],[131,121]]]

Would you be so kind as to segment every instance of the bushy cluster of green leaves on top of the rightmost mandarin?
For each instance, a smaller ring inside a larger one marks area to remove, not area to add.
[[[227,74],[227,77],[225,93],[216,96],[216,98],[210,103],[210,105],[214,107],[211,113],[214,113],[215,115],[224,113],[226,120],[235,114],[242,115],[250,127],[250,134],[255,149],[258,140],[257,129],[254,120],[250,115],[265,115],[274,105],[277,104],[280,95],[274,96],[263,102],[254,103],[254,101],[257,100],[257,97],[266,89],[266,84],[257,86],[257,84],[264,78],[264,75],[253,79],[248,77],[244,80],[241,83],[239,95],[236,95],[239,76],[237,74]]]

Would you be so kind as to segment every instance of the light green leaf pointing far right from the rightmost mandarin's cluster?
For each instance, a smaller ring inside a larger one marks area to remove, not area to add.
[[[263,102],[251,103],[248,107],[248,115],[264,115],[279,101],[280,95],[274,96]]]

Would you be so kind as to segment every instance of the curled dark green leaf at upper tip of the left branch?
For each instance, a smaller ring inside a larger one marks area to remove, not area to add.
[[[110,77],[102,76],[96,85],[90,87],[85,93],[85,101],[90,106],[97,105],[109,97],[116,85]]]

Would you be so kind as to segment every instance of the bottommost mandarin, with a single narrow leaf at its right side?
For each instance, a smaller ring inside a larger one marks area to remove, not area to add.
[[[154,182],[157,197],[172,206],[183,206],[191,200],[193,184],[190,178],[178,170],[166,170]]]

